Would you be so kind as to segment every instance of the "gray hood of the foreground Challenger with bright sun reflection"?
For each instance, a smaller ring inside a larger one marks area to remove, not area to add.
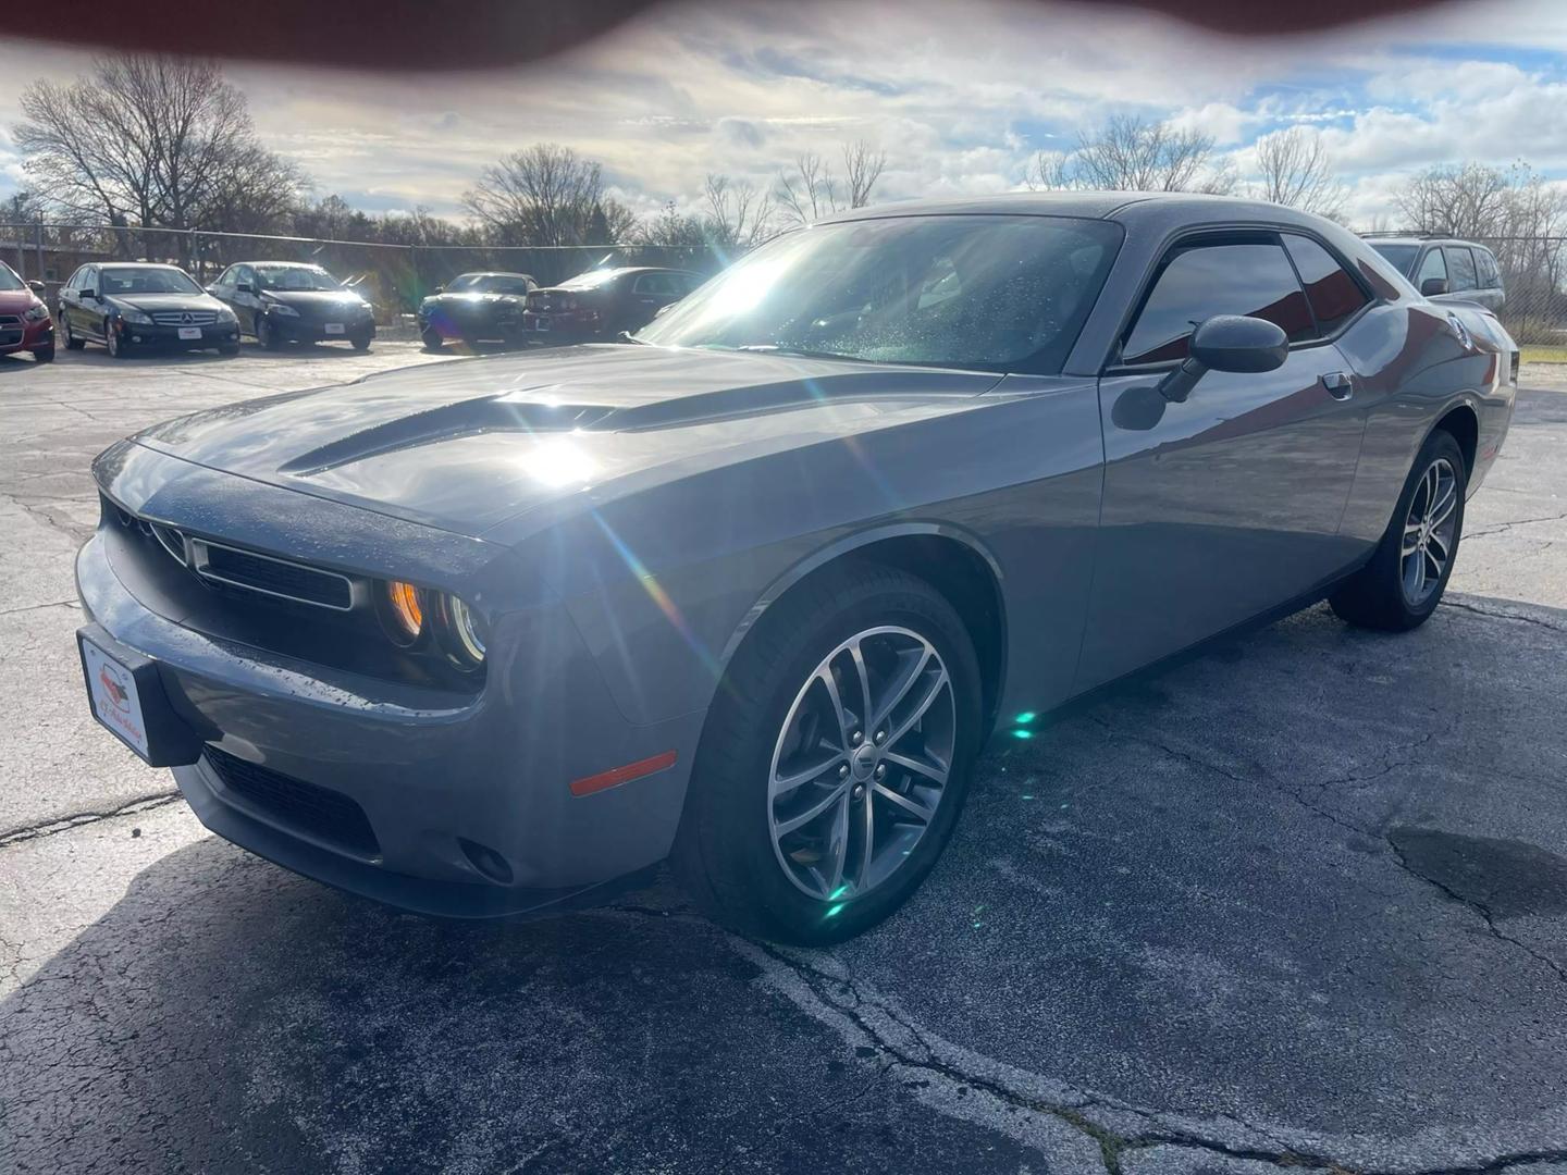
[[[480,536],[719,465],[961,410],[1000,376],[594,345],[465,359],[208,409],[141,445]]]

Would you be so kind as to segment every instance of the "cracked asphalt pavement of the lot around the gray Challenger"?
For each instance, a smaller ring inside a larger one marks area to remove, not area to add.
[[[903,912],[794,951],[666,880],[393,913],[88,718],[92,453],[425,360],[0,360],[0,1170],[1567,1175],[1567,371],[1420,631],[1313,608],[1058,714]]]

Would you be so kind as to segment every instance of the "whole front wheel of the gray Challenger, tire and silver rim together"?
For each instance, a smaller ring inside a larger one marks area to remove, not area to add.
[[[741,934],[852,937],[935,863],[979,727],[978,660],[940,592],[874,564],[815,577],[763,614],[729,666],[675,873]]]

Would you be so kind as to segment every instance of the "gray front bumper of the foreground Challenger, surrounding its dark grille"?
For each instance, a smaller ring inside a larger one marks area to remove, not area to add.
[[[165,483],[161,492],[138,500],[136,487],[157,484],[157,473],[183,475],[179,492]],[[219,478],[141,450],[105,489],[127,509],[190,526],[188,504],[212,501],[218,490],[207,483]],[[227,498],[235,501],[232,487]],[[298,533],[331,528],[345,547],[367,550],[385,522],[254,484],[240,501],[243,509],[226,511],[229,537],[263,550],[279,519]],[[429,550],[409,551],[412,562],[475,561],[478,540],[431,531],[428,542]],[[437,550],[453,542],[470,548]],[[384,536],[379,547],[387,547]],[[575,902],[668,855],[702,716],[628,724],[564,605],[534,598],[498,617],[486,686],[451,694],[185,628],[141,603],[128,586],[135,577],[127,583],[116,572],[110,550],[102,531],[81,548],[81,602],[113,641],[157,663],[174,714],[204,747],[216,749],[176,768],[174,777],[201,821],[221,837],[367,898],[472,918]],[[668,750],[675,750],[675,765],[657,774],[586,796],[569,788],[572,780]],[[348,801],[373,838],[346,841],[301,818],[309,805],[274,804],[265,793],[226,785],[219,769],[226,761]],[[498,854],[509,879],[481,870],[483,855],[476,862],[469,848],[475,844]]]

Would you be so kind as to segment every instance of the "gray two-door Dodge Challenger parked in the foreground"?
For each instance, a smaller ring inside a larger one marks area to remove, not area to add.
[[[1431,616],[1517,362],[1269,204],[859,210],[627,342],[113,445],[83,675],[207,827],[353,893],[522,915],[668,859],[832,942],[992,736],[1323,598]]]

